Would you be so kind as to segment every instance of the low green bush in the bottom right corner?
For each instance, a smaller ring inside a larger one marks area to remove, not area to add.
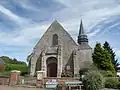
[[[105,79],[105,88],[118,89],[120,82],[115,77],[107,77]]]

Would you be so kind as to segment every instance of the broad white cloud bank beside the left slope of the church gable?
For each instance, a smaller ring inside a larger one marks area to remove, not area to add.
[[[41,37],[48,25],[31,25],[29,27],[21,28],[12,33],[1,32],[0,43],[14,46],[27,46],[33,44],[32,41]],[[4,37],[4,38],[3,38]],[[10,41],[10,42],[7,42]]]

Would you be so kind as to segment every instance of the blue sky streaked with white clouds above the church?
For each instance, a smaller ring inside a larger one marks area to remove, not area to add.
[[[90,46],[108,41],[120,62],[120,0],[0,0],[0,56],[26,61],[54,20],[76,41],[81,19]]]

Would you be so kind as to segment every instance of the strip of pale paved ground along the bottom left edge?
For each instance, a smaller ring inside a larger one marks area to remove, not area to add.
[[[24,88],[24,87],[0,86],[0,90],[45,90],[45,89],[40,89],[40,88]]]

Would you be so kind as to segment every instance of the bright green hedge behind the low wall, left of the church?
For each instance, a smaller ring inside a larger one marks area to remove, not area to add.
[[[20,64],[6,64],[5,71],[19,70],[21,71],[21,75],[27,74],[27,65]]]

